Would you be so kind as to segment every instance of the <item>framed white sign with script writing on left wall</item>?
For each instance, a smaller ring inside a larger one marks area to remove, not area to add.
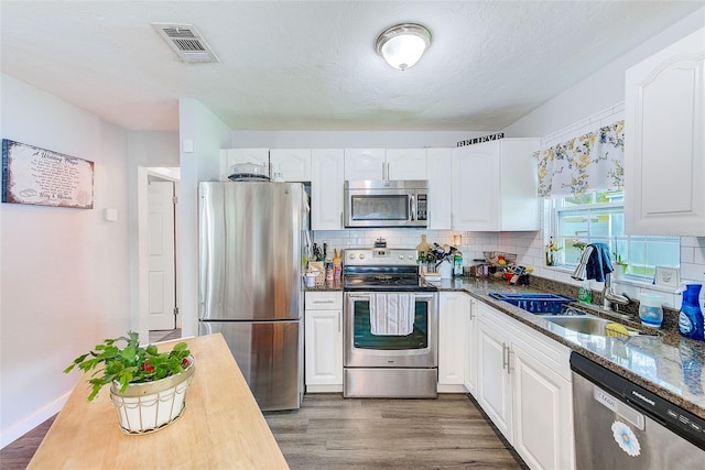
[[[93,209],[94,163],[2,140],[2,201]]]

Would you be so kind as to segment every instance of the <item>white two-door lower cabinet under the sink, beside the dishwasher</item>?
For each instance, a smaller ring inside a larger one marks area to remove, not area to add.
[[[478,403],[530,468],[575,468],[571,350],[484,303],[478,314]]]

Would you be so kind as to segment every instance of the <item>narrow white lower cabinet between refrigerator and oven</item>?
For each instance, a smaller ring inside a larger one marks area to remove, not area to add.
[[[343,293],[306,292],[306,392],[343,391]]]

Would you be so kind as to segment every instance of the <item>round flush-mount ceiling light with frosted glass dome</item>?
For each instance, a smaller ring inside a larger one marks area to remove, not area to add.
[[[375,44],[377,53],[389,65],[400,70],[412,67],[431,45],[431,32],[415,23],[390,28],[379,35]]]

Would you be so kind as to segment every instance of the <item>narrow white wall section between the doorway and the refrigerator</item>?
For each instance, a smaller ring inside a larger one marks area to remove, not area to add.
[[[230,128],[195,99],[178,101],[181,142],[181,239],[182,332],[198,334],[198,182],[218,181],[220,149],[230,144]],[[183,152],[184,141],[193,152]]]

